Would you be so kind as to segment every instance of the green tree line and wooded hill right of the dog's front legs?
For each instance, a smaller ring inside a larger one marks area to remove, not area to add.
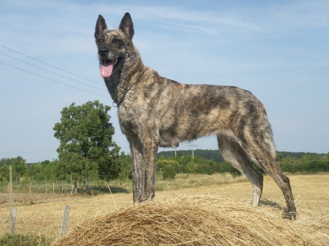
[[[176,157],[174,151],[162,151],[158,154],[158,167],[164,168],[164,164],[167,164],[168,166],[172,165],[176,172],[199,174],[230,172],[233,175],[241,174],[223,160],[219,150],[197,149],[194,150],[194,156],[194,159],[192,159],[192,150],[179,150],[176,153]],[[212,158],[214,156],[219,161],[215,161]],[[329,172],[329,152],[328,154],[318,154],[277,151],[276,162],[279,164],[282,172],[302,174]],[[251,163],[251,165],[257,172],[265,173],[255,164]]]

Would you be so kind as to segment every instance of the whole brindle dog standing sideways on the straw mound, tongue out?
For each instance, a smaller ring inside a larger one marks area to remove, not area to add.
[[[273,177],[285,197],[287,216],[295,218],[289,178],[275,162],[271,125],[263,104],[234,86],[188,85],[161,77],[144,66],[133,36],[129,13],[116,30],[108,30],[99,15],[95,39],[101,74],[130,144],[134,202],[155,196],[158,147],[177,147],[182,141],[216,135],[224,159],[252,183],[252,205],[259,204],[263,176],[250,162]]]

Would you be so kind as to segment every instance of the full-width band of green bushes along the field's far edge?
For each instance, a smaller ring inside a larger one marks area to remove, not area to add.
[[[177,173],[196,173],[196,174],[213,174],[216,172],[230,172],[233,175],[240,175],[229,163],[225,161],[215,161],[212,158],[199,156],[195,154],[194,159],[191,155],[184,155],[185,151],[179,153],[177,151],[175,157],[171,151],[163,151],[158,154],[157,173],[158,177],[164,179],[174,178]],[[207,153],[208,152],[208,153]],[[206,156],[211,156],[211,152],[218,152],[219,150],[202,150],[200,153],[205,153]],[[329,172],[329,154],[315,154],[304,153],[304,155],[296,155],[294,152],[289,155],[284,155],[282,152],[277,152],[276,161],[280,165],[282,172],[288,173],[303,173],[311,174],[317,172]],[[172,155],[171,155],[172,154]],[[298,156],[298,157],[296,157]],[[63,167],[63,163],[57,159],[53,161],[45,160],[38,163],[27,163],[21,157],[2,158],[0,159],[0,181],[9,180],[9,165],[12,166],[13,178],[18,181],[62,181],[73,180],[74,172],[67,172],[67,168]],[[65,165],[65,164],[64,164]],[[261,173],[264,173],[257,166],[253,167]],[[84,173],[76,174],[78,181],[84,180]],[[89,170],[89,179],[91,180],[110,180],[132,179],[131,156],[125,154],[123,151],[117,156],[117,165],[115,172],[104,175],[99,169]],[[74,181],[74,180],[73,180]]]

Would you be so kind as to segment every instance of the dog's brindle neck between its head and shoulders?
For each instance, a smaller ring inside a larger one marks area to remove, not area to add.
[[[140,55],[134,47],[134,52],[127,53],[122,57],[122,62],[114,73],[104,78],[114,103],[119,105],[133,85],[138,83],[139,78],[145,71]]]

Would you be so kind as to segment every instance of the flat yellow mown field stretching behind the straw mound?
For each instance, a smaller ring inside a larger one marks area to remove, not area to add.
[[[329,220],[329,174],[289,176],[297,209],[309,210],[315,215]],[[16,220],[17,234],[30,234],[58,238],[64,205],[70,205],[69,232],[85,220],[104,216],[117,208],[132,203],[131,183],[110,183],[112,190],[126,193],[101,194],[97,196],[71,196],[52,194],[15,194],[14,205],[18,208]],[[234,178],[230,174],[187,175],[179,174],[173,180],[157,182],[157,197],[177,197],[185,194],[212,195],[238,202],[250,203],[252,187],[243,177]],[[0,237],[9,232],[9,211],[5,197],[0,194]],[[32,201],[32,202],[31,202]],[[264,177],[263,205],[285,205],[283,195],[269,176]],[[327,224],[328,226],[328,224]],[[328,228],[328,227],[327,227]],[[328,231],[326,233],[329,233]]]

